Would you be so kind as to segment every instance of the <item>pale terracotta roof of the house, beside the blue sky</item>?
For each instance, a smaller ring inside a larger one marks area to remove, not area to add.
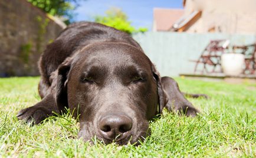
[[[184,14],[183,9],[154,8],[153,21],[155,31],[169,31],[172,25]]]

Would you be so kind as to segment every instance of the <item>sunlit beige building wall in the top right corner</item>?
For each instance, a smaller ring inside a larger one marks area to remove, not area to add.
[[[202,16],[186,32],[256,34],[255,0],[187,0],[185,15],[201,10]]]

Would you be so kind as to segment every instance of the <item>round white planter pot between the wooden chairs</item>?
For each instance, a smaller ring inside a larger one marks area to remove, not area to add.
[[[240,75],[244,65],[244,55],[241,53],[225,53],[221,56],[221,66],[225,75]]]

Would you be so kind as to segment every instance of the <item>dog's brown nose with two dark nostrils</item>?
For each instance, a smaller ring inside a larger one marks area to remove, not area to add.
[[[126,115],[108,115],[99,123],[100,132],[107,139],[115,139],[132,129],[132,119]]]

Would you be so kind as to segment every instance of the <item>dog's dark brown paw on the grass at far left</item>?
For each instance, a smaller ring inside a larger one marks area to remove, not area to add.
[[[22,109],[18,112],[17,117],[19,120],[24,120],[26,123],[38,124],[42,120],[49,117],[47,110],[43,107],[31,106]]]

